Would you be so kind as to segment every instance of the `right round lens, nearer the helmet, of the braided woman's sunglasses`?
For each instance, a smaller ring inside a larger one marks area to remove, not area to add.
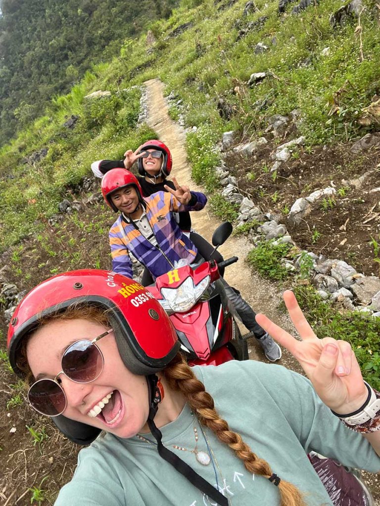
[[[83,339],[67,348],[62,356],[62,370],[77,383],[96,379],[103,370],[103,355],[97,346]]]

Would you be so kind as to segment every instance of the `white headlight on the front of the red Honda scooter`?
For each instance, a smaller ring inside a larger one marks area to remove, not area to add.
[[[189,276],[178,288],[161,288],[161,294],[172,311],[175,313],[185,313],[202,297],[209,283],[210,276],[206,276],[197,285],[194,284],[193,278]]]

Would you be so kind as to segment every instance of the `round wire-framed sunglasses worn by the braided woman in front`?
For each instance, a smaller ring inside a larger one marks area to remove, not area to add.
[[[29,388],[28,401],[31,407],[47,416],[62,414],[67,406],[67,398],[58,376],[64,374],[74,383],[91,383],[98,378],[104,367],[104,357],[95,343],[111,332],[112,328],[92,341],[81,339],[68,346],[61,358],[62,370],[55,378],[38,379]]]

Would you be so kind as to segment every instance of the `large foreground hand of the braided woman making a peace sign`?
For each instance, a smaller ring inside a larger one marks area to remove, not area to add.
[[[256,315],[257,323],[297,359],[318,396],[330,409],[340,414],[356,411],[364,404],[368,391],[350,343],[318,339],[294,293],[286,290],[283,297],[301,341],[263,314]]]

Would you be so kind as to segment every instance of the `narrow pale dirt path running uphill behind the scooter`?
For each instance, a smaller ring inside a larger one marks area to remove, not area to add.
[[[191,179],[191,166],[187,162],[184,147],[186,135],[183,128],[172,121],[168,115],[168,105],[163,96],[164,84],[159,79],[151,79],[146,81],[145,85],[147,87],[147,123],[169,146],[173,156],[174,176],[180,184],[186,184],[191,189],[203,191]],[[220,221],[210,215],[206,205],[206,208],[201,212],[192,214],[192,223],[198,233],[211,241],[212,233]],[[244,259],[250,249],[251,246],[247,239],[238,237],[231,237],[220,247],[224,258],[234,255],[239,257],[239,262],[226,268],[225,279],[241,291],[256,313],[265,312],[277,323],[289,327],[288,318],[277,310],[281,301],[281,292],[274,284],[252,273],[250,267],[245,263]],[[242,328],[244,329],[244,326]],[[250,358],[262,360],[264,355],[254,341],[250,340],[249,343]],[[283,354],[281,363],[287,365],[289,360],[292,362],[291,368],[298,370],[294,361],[286,353]]]

